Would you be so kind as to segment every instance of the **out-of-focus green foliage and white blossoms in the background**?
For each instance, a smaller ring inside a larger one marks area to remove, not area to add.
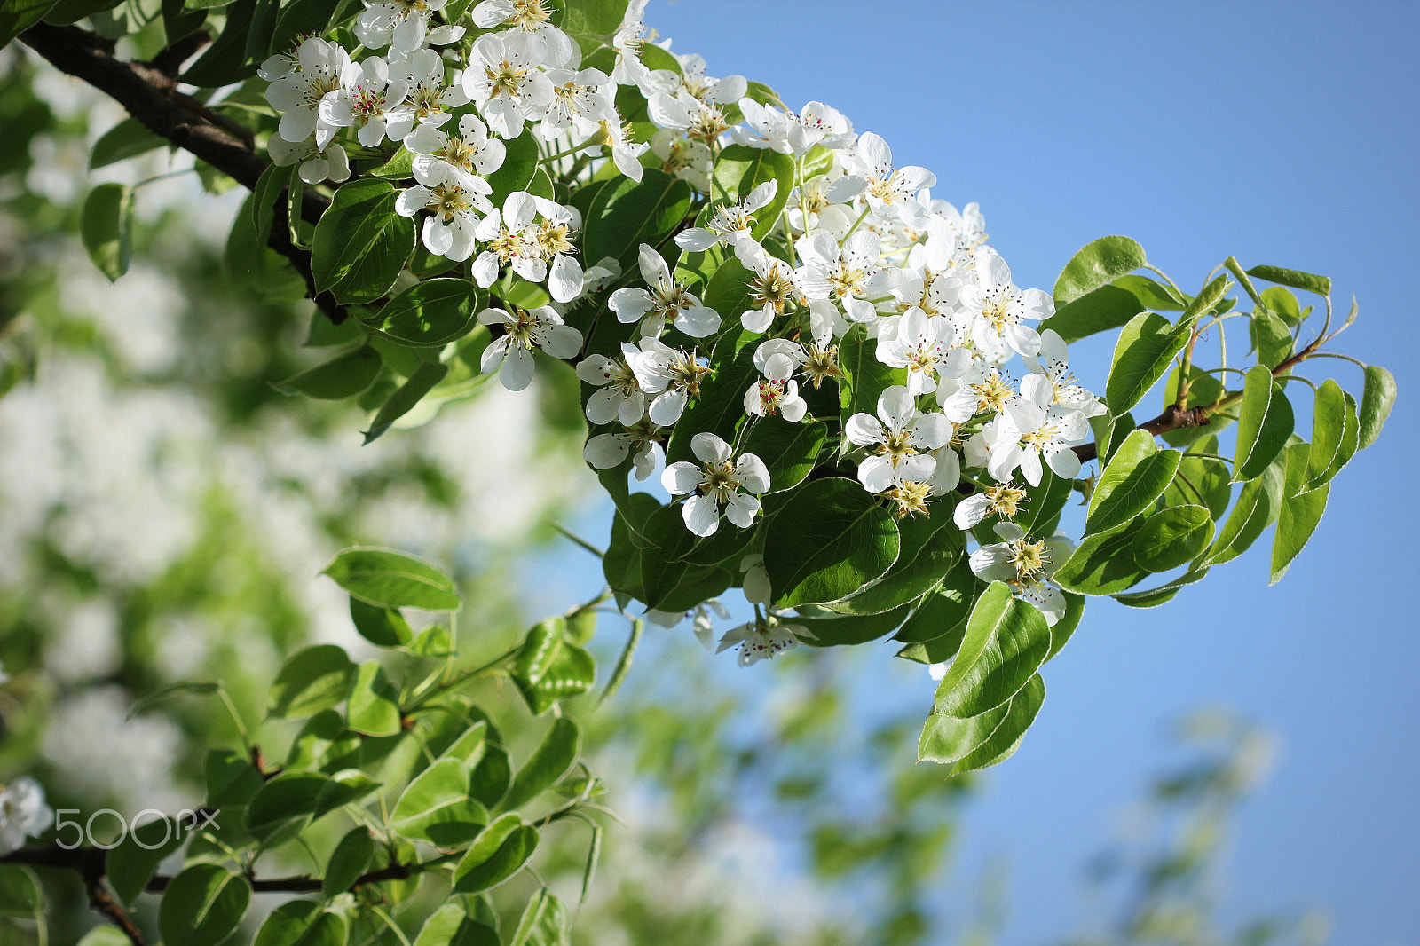
[[[220,179],[165,149],[91,173],[94,142],[122,118],[16,45],[0,51],[0,662],[11,678],[0,778],[33,773],[55,808],[132,815],[195,805],[206,749],[239,744],[217,700],[179,696],[129,719],[135,700],[222,679],[256,723],[294,648],[375,653],[318,575],[337,550],[382,544],[450,568],[470,602],[460,653],[479,662],[596,594],[599,564],[552,523],[598,544],[609,513],[589,499],[601,493],[561,366],[540,375],[538,398],[484,386],[369,447],[358,408],[281,393],[274,382],[321,361],[338,332],[278,267],[224,259],[241,195]],[[87,189],[104,180],[149,182],[133,264],[115,284],[75,236]],[[601,616],[604,679],[626,626]],[[953,871],[988,777],[944,781],[912,764],[930,680],[892,662],[895,686],[920,689],[903,712],[863,686],[880,685],[869,668],[883,658],[799,649],[746,673],[711,663],[684,626],[652,628],[606,706],[571,703],[621,820],[574,939],[974,945],[994,942],[1003,910],[1031,909],[1003,902],[1000,874]],[[480,699],[525,753],[542,724],[513,687]],[[280,757],[291,736],[268,723],[258,741]],[[1194,717],[1181,737],[1183,767],[1086,865],[1082,919],[1059,918],[1059,942],[1323,939],[1312,916],[1220,928],[1230,817],[1264,776],[1268,740],[1225,714]],[[585,831],[568,825],[555,841],[538,871],[577,902]],[[54,942],[78,940],[97,916],[71,876],[44,879],[60,905]],[[963,886],[976,905],[946,908],[944,892]],[[275,899],[257,898],[253,929]],[[27,942],[24,920],[0,919],[0,940]]]

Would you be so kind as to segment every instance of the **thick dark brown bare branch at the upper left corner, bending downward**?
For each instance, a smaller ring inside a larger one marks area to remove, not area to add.
[[[78,27],[37,23],[20,34],[20,40],[51,65],[111,97],[151,132],[254,190],[270,165],[256,153],[251,131],[178,91],[178,80],[170,75],[176,64],[182,62],[176,60],[175,64],[172,60],[189,47],[196,51],[200,45],[195,37],[197,34],[179,40],[153,62],[125,62],[114,57],[111,41]],[[290,260],[305,280],[307,295],[315,300],[332,322],[339,324],[345,320],[345,308],[329,293],[315,291],[311,254],[291,243],[285,205],[284,199],[277,200],[267,246]],[[317,223],[327,206],[329,200],[302,186],[302,220]]]

